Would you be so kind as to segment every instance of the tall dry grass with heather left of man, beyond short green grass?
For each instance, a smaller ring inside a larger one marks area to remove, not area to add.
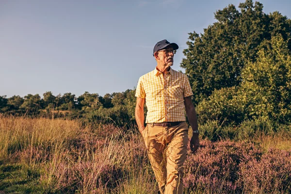
[[[136,167],[155,184],[139,135],[113,125],[92,126],[1,117],[0,160],[39,174],[42,193],[128,193],[130,187],[142,191],[149,187],[136,187],[145,181],[142,174],[132,173]]]

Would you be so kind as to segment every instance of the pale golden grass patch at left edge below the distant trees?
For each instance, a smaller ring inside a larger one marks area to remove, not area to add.
[[[70,141],[80,133],[77,121],[0,117],[0,158],[29,147],[51,147]]]

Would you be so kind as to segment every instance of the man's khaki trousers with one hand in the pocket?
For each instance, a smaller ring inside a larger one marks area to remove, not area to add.
[[[161,194],[182,194],[188,143],[186,122],[173,127],[147,124],[143,137]]]

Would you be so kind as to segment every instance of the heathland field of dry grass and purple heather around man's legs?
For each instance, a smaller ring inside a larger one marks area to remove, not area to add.
[[[200,126],[201,147],[185,162],[184,193],[291,193],[290,126],[272,132],[266,123],[221,129],[239,132],[212,142],[206,134],[215,124]],[[0,194],[6,193],[157,194],[158,187],[136,129],[0,117]]]

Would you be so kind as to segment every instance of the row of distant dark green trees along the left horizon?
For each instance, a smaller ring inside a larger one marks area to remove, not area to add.
[[[60,110],[60,111],[92,111],[103,108],[112,108],[117,105],[124,105],[124,100],[127,98],[127,90],[121,93],[106,94],[104,97],[99,96],[97,93],[90,94],[85,92],[79,97],[74,94],[65,93],[54,96],[52,92],[46,92],[41,98],[38,94],[28,94],[25,97],[13,96],[6,98],[0,96],[0,109],[2,112],[17,111],[17,110]]]

